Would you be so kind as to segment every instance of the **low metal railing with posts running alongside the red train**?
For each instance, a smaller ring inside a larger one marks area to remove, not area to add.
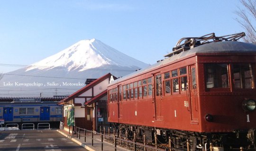
[[[152,147],[152,146],[146,145],[145,137],[144,137],[144,143],[137,143],[135,132],[133,134],[133,136],[134,136],[133,141],[130,141],[130,140],[128,140],[127,137],[125,139],[122,139],[121,135],[120,135],[121,133],[117,134],[117,133],[115,133],[115,130],[113,130],[113,134],[110,135],[110,128],[109,128],[108,134],[105,133],[105,128],[104,128],[103,133],[101,131],[100,131],[101,133],[97,133],[93,130],[90,131],[90,130],[86,130],[86,129],[83,129],[83,128],[80,128],[77,126],[75,127],[75,130],[76,130],[76,138],[81,139],[81,136],[82,136],[82,137],[84,137],[84,142],[86,142],[87,137],[91,136],[91,146],[93,146],[93,144],[94,144],[93,141],[100,142],[101,143],[101,151],[103,151],[104,145],[113,147],[114,151],[117,151],[118,146],[120,146],[120,147],[126,146],[126,148],[128,150],[133,150],[133,151],[137,151],[138,148],[140,150],[144,149],[144,151],[146,151],[147,149],[154,150],[154,151],[163,151],[163,149],[158,149],[157,147]],[[100,140],[95,139],[94,138],[95,135],[100,135],[101,139]],[[119,136],[119,138],[117,136]],[[110,143],[103,142],[103,140],[113,143],[114,146],[111,145]]]

